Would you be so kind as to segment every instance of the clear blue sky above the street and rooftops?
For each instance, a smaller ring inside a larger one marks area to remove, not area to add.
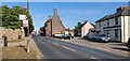
[[[3,5],[26,7],[26,2],[3,2]],[[88,20],[92,24],[105,15],[114,14],[119,6],[128,5],[127,2],[29,2],[29,13],[32,17],[35,30],[44,25],[53,10],[65,28],[74,29],[77,22]]]

